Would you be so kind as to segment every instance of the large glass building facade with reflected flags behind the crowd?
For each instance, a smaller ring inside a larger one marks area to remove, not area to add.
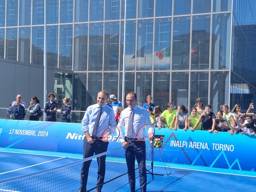
[[[135,91],[140,106],[152,95],[162,110],[191,109],[198,97],[213,112],[224,103],[247,109],[255,19],[255,0],[0,0],[0,58],[43,65],[45,51],[57,100],[71,97],[73,111],[102,89],[121,101],[124,74],[124,92]]]

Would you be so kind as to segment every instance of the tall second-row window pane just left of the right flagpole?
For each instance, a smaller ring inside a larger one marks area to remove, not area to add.
[[[117,71],[119,61],[119,22],[105,23],[104,70]]]

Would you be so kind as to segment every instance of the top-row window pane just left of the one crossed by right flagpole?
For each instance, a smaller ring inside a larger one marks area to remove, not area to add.
[[[120,14],[120,0],[106,0],[105,20],[118,20]]]

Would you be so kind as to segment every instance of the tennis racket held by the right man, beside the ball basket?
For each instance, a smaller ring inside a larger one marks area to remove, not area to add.
[[[129,142],[129,144],[132,143],[133,141],[148,141],[154,138],[154,134],[155,128],[152,126],[152,124],[144,124],[139,128],[136,136],[132,141]]]

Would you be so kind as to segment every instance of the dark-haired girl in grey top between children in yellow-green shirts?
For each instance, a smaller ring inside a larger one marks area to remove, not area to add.
[[[184,131],[187,131],[188,129],[187,118],[188,118],[188,109],[186,109],[184,105],[179,105],[177,108],[176,121],[173,129],[174,130],[184,129]],[[172,127],[170,127],[170,130],[172,130]]]

